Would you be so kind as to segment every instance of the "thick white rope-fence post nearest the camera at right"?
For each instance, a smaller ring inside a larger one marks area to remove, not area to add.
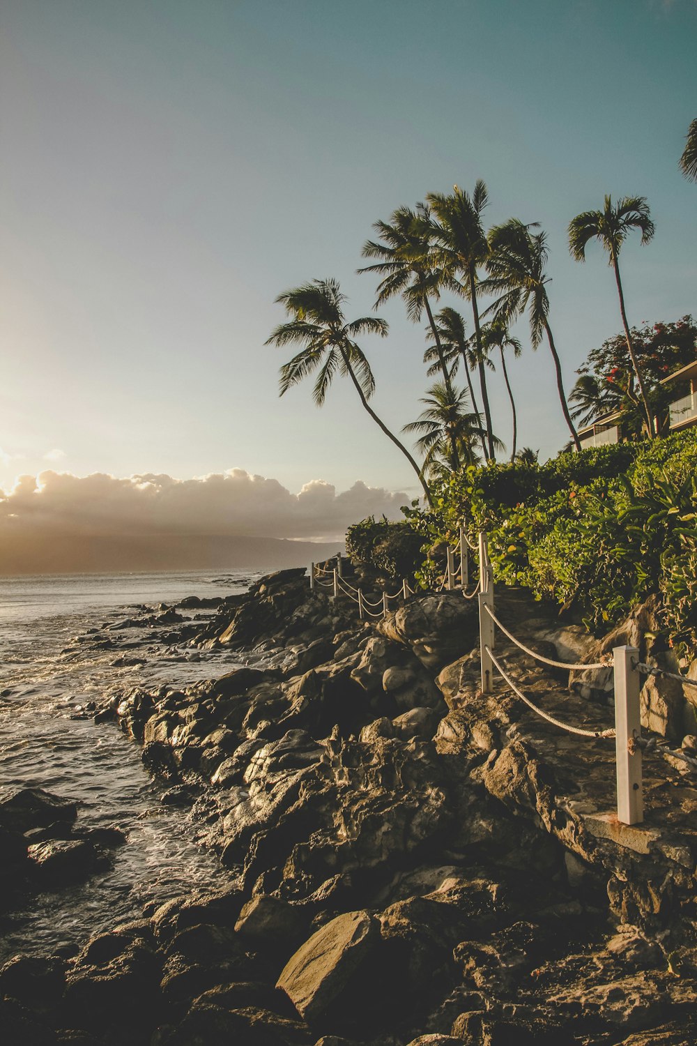
[[[635,646],[615,646],[614,655],[614,746],[618,766],[618,820],[638,824],[644,820],[642,791],[640,678],[632,667],[638,661]]]

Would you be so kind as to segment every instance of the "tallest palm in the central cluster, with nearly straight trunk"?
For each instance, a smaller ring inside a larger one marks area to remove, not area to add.
[[[450,196],[428,192],[426,203],[435,219],[428,217],[426,223],[437,264],[443,269],[442,285],[469,298],[471,302],[478,354],[477,366],[486,420],[487,457],[495,460],[491,408],[484,372],[482,326],[477,300],[479,269],[489,253],[489,245],[482,225],[482,214],[488,202],[487,187],[481,179],[474,185],[471,197],[457,185],[452,186]]]

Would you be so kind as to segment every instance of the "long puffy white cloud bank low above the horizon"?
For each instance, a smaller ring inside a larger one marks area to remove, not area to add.
[[[21,476],[11,491],[0,492],[0,537],[21,525],[44,541],[57,535],[333,541],[365,516],[397,519],[409,501],[404,493],[369,487],[359,480],[339,494],[330,483],[311,480],[292,494],[278,480],[242,469],[184,480],[48,471]]]

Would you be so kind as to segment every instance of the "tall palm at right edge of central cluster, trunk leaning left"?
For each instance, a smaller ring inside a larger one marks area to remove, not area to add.
[[[550,298],[547,293],[549,277],[544,271],[549,254],[544,232],[531,232],[536,225],[525,225],[512,218],[504,225],[495,226],[489,232],[489,256],[487,257],[488,279],[484,287],[501,297],[492,305],[496,320],[509,324],[529,310],[530,340],[537,348],[542,335],[547,337],[557,377],[559,402],[568,431],[581,450],[578,433],[568,412],[561,374],[561,362],[550,326]]]

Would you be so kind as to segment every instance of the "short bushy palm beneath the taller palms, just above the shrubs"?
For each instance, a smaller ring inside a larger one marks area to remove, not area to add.
[[[442,477],[456,472],[460,461],[475,464],[474,438],[481,433],[478,414],[468,412],[465,389],[459,391],[445,382],[436,382],[420,401],[426,409],[416,422],[410,422],[402,432],[417,432],[415,446],[424,455],[423,472],[431,477]],[[451,448],[458,448],[454,458]]]

